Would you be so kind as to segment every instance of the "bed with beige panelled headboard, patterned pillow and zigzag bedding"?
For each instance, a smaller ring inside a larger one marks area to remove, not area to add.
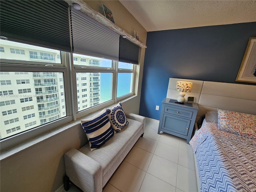
[[[170,78],[167,98],[178,97],[178,80],[193,82],[186,97],[198,103],[202,122],[190,140],[198,191],[256,192],[256,86]]]

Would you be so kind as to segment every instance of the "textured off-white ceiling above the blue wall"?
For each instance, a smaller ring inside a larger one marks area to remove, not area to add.
[[[120,0],[146,31],[256,22],[256,0]]]

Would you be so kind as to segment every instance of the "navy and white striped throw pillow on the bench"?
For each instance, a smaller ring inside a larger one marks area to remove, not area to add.
[[[99,148],[114,136],[114,130],[108,119],[106,109],[92,118],[81,120],[81,125],[88,138],[91,151]]]

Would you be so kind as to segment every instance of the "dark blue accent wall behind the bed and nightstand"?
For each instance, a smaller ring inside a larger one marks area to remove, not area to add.
[[[251,37],[256,22],[148,32],[140,115],[160,119],[170,77],[241,83],[235,80]]]

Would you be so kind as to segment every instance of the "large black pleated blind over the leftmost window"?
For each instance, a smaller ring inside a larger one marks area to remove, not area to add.
[[[55,0],[1,0],[1,36],[71,52],[68,4]]]

